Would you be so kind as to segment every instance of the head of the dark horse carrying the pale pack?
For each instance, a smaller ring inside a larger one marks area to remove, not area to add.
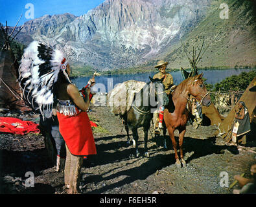
[[[161,105],[167,105],[169,103],[169,97],[167,96],[167,94],[165,93],[165,86],[163,85],[163,79],[153,79],[151,77],[149,77],[151,83],[153,83],[153,88],[155,91],[155,97],[157,98],[157,102],[159,102]],[[152,89],[152,87],[150,87],[150,90]],[[150,93],[152,94],[152,93]]]

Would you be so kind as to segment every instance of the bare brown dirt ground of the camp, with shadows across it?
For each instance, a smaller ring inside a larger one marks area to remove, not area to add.
[[[150,157],[136,158],[134,146],[126,144],[126,132],[121,119],[111,114],[107,107],[91,109],[89,117],[99,125],[93,129],[97,155],[84,160],[80,183],[82,193],[229,194],[233,193],[233,189],[239,189],[239,186],[236,184],[231,190],[221,187],[220,173],[227,172],[230,185],[234,175],[245,173],[244,177],[250,177],[250,166],[256,163],[253,138],[242,148],[227,146],[214,135],[216,126],[200,126],[198,129],[187,126],[183,144],[186,168],[176,168],[170,140],[165,150],[163,136],[154,138],[152,128],[148,133]],[[10,116],[1,114],[7,115]],[[23,120],[39,121],[38,116],[11,115]],[[139,129],[141,155],[143,149],[143,130]],[[34,173],[34,188],[25,188],[25,173],[28,171]],[[43,136],[32,133],[0,133],[0,186],[0,193],[66,193],[64,172],[56,172],[52,166]]]

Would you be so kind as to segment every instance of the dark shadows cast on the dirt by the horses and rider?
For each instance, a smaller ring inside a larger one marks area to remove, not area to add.
[[[117,137],[123,137],[124,135],[117,135]],[[104,140],[110,140],[111,137],[114,136],[106,136],[102,137],[101,139]],[[176,140],[178,137],[176,137]],[[163,136],[159,136],[156,140],[153,139],[154,142],[156,142],[156,146],[151,146],[148,151],[152,154],[152,157],[147,158],[145,160],[141,160],[141,162],[137,162],[137,164],[134,164],[133,168],[125,169],[122,168],[121,171],[118,171],[112,175],[108,175],[107,177],[104,177],[104,175],[108,174],[113,170],[107,169],[106,173],[103,173],[101,175],[89,175],[86,177],[86,183],[90,182],[102,182],[107,180],[115,180],[117,177],[123,176],[124,179],[117,180],[117,182],[113,181],[114,183],[106,186],[102,186],[102,188],[99,188],[97,190],[89,191],[88,193],[104,193],[108,190],[111,190],[113,188],[118,188],[123,186],[124,184],[130,184],[134,182],[135,180],[145,180],[148,176],[156,173],[157,170],[160,170],[162,168],[165,168],[167,166],[170,166],[175,163],[174,159],[174,153],[172,150],[172,144],[170,143],[170,140],[167,140],[167,151],[163,153],[164,149],[162,146],[163,144]],[[144,143],[140,142],[140,144],[143,144],[141,146],[144,147]],[[107,144],[99,144],[97,145],[98,155],[95,157],[93,162],[95,162],[96,165],[104,165],[108,164],[110,162],[121,162],[122,160],[126,160],[129,158],[129,155],[131,153],[134,153],[135,149],[134,147],[128,147],[124,148],[126,146],[126,141],[120,140],[117,142],[111,142]],[[107,151],[114,150],[113,152],[109,153]],[[143,148],[141,148],[141,151]],[[186,137],[183,142],[183,152],[184,153],[191,153],[192,155],[187,158],[186,162],[189,163],[191,160],[195,158],[204,157],[206,155],[211,155],[213,153],[215,154],[222,154],[225,153],[225,150],[228,150],[230,153],[237,155],[239,151],[237,150],[237,147],[235,146],[217,146],[215,145],[215,137],[208,138],[206,140],[199,140],[194,138]],[[143,157],[134,158],[134,160],[142,159]],[[134,162],[135,162],[134,161]],[[141,164],[138,164],[141,163]],[[133,163],[132,163],[133,164]],[[130,165],[132,165],[130,163]],[[119,168],[119,167],[117,167]],[[115,169],[117,169],[115,168]],[[121,167],[120,167],[121,169]]]

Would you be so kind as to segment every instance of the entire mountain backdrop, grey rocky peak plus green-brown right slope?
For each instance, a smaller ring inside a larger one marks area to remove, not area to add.
[[[220,17],[222,3],[228,19]],[[64,50],[76,67],[108,71],[153,67],[160,59],[187,68],[184,48],[191,56],[202,41],[207,50],[198,67],[255,66],[255,34],[254,1],[106,0],[82,16],[27,21],[17,41],[38,40]]]

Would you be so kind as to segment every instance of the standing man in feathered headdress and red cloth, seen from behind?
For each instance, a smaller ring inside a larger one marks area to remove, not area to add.
[[[32,105],[38,105],[43,118],[51,118],[56,107],[60,134],[66,144],[64,170],[68,193],[78,193],[84,156],[97,153],[89,117],[90,87],[80,95],[69,79],[70,68],[61,50],[51,49],[38,41],[25,49],[19,67],[19,82],[29,90]],[[24,81],[23,81],[24,80]]]

